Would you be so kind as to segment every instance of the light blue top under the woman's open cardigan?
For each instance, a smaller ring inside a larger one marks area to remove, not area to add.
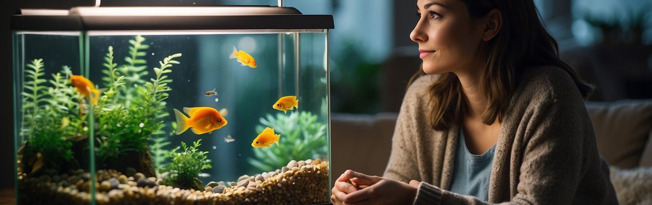
[[[475,155],[471,154],[466,147],[462,126],[460,126],[460,134],[457,139],[450,191],[487,201],[496,144],[484,154]]]

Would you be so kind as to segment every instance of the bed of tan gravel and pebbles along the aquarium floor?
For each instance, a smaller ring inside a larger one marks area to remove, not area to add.
[[[286,167],[256,176],[243,175],[235,182],[209,182],[204,191],[159,185],[165,178],[97,171],[98,204],[319,204],[330,202],[329,163],[321,159],[292,160]],[[27,178],[19,174],[19,201],[25,204],[88,204],[90,174]]]

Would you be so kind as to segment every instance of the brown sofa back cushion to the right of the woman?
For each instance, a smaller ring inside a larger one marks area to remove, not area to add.
[[[600,155],[610,165],[637,167],[652,128],[652,100],[586,102]]]

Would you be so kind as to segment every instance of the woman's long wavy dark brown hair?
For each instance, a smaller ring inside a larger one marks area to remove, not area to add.
[[[592,87],[578,79],[571,67],[559,59],[557,41],[548,34],[539,20],[537,8],[532,0],[463,0],[469,18],[482,18],[493,8],[503,16],[498,34],[488,41],[486,68],[480,75],[480,89],[488,100],[481,118],[484,124],[493,124],[496,118],[502,122],[509,101],[516,87],[518,69],[531,66],[551,65],[562,68],[571,75],[584,98]],[[411,83],[425,75],[422,69],[412,76]],[[466,96],[458,77],[452,73],[441,77],[428,91],[432,110],[430,125],[435,130],[445,130],[452,124],[461,123],[469,112]]]

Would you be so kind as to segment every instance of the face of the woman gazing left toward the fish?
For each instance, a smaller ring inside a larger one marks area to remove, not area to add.
[[[419,44],[426,74],[460,72],[477,64],[482,27],[467,16],[462,0],[417,1],[419,22],[410,38]]]

